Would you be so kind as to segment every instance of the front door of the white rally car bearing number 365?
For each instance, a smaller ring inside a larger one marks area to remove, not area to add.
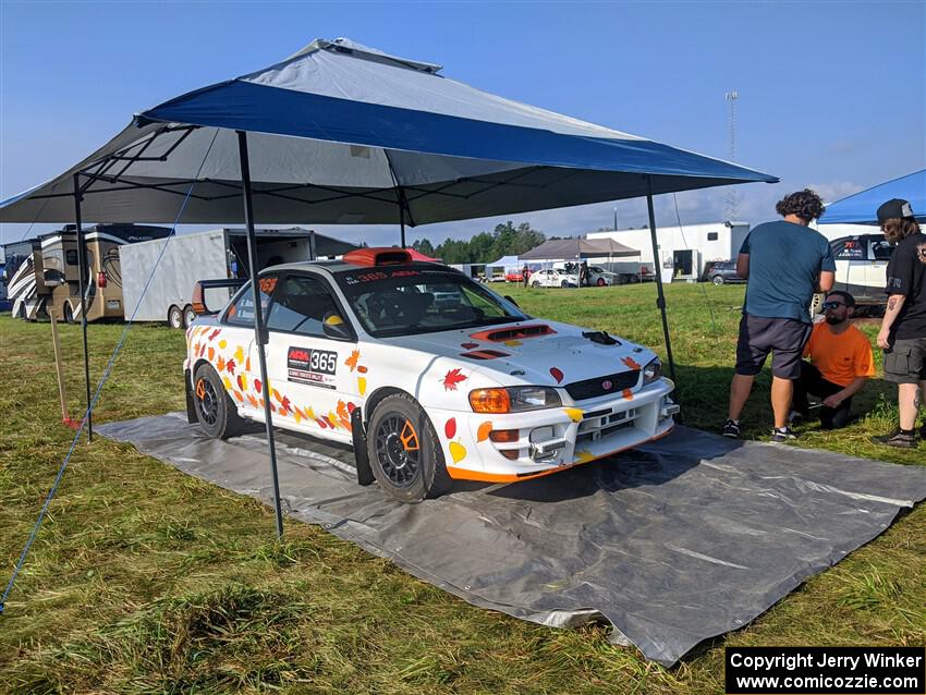
[[[346,331],[350,340],[330,338],[326,321],[349,321],[328,279],[310,272],[283,276],[267,316],[266,393],[281,426],[351,441],[351,412],[360,404],[349,369],[356,332]]]

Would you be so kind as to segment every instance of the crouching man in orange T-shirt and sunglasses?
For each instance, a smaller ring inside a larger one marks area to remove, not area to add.
[[[849,322],[855,298],[849,292],[830,292],[824,312],[826,320],[814,326],[804,348],[811,362],[801,363],[801,377],[794,381],[791,418],[807,416],[807,393],[813,393],[824,399],[820,425],[837,429],[849,424],[852,397],[875,376],[875,363],[872,343]]]

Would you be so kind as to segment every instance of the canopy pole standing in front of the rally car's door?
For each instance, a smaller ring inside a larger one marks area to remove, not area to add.
[[[277,474],[277,447],[273,441],[273,422],[270,415],[270,382],[267,379],[267,329],[260,306],[260,288],[257,283],[257,235],[254,232],[254,206],[251,197],[251,166],[247,160],[247,133],[237,132],[237,154],[241,160],[241,183],[244,197],[244,221],[247,227],[247,264],[251,275],[251,293],[254,297],[254,340],[257,343],[257,361],[260,364],[260,380],[264,382],[264,422],[267,425],[267,447],[270,450],[270,473],[273,478],[273,510],[277,514],[277,537],[283,537],[283,513],[280,509],[280,478]]]

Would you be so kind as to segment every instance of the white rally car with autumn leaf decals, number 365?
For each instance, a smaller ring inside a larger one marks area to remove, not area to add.
[[[674,425],[674,385],[653,351],[527,316],[404,251],[276,266],[259,285],[269,383],[247,284],[187,330],[190,420],[233,436],[264,422],[268,399],[275,426],[352,444],[358,480],[395,499],[546,475]]]

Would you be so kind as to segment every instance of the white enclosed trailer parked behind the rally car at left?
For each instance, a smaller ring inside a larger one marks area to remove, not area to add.
[[[188,326],[193,310],[193,285],[197,280],[247,278],[247,236],[244,229],[216,229],[173,236],[151,276],[151,269],[165,248],[166,240],[126,246],[122,254],[125,317],[137,321],[167,321],[174,328]],[[257,267],[341,256],[356,248],[353,244],[316,234],[312,230],[257,230]],[[151,277],[150,285],[145,284]],[[144,292],[144,296],[143,296]],[[229,290],[215,290],[228,300]],[[137,307],[137,310],[136,310]]]

